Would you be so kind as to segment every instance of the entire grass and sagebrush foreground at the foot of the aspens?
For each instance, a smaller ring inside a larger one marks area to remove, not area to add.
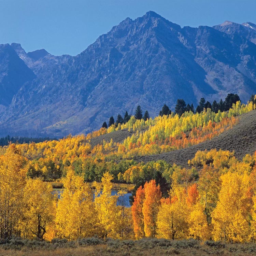
[[[98,238],[77,241],[54,239],[52,243],[35,240],[12,239],[0,246],[0,255],[12,256],[137,256],[137,255],[255,255],[256,244],[227,244],[197,240],[171,241],[166,239],[113,240]]]

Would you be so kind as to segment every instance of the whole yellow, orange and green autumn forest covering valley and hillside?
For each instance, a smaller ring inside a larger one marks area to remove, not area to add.
[[[238,158],[234,151],[198,150],[185,166],[139,159],[209,141],[255,108],[238,101],[226,112],[208,108],[146,121],[132,116],[87,136],[1,147],[1,242],[14,237],[254,242],[256,152]],[[119,130],[131,135],[96,144]],[[116,186],[121,183],[134,184],[131,207],[127,190]]]

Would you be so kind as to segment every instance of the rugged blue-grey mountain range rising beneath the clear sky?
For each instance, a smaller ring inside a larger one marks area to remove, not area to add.
[[[2,45],[0,55],[9,47],[14,66],[26,72],[15,78],[9,101],[0,102],[0,135],[88,132],[111,115],[134,114],[137,105],[151,116],[164,103],[174,110],[179,98],[197,105],[201,97],[212,102],[238,93],[247,101],[256,93],[255,28],[249,22],[181,28],[147,12],[125,19],[74,57]],[[5,66],[1,58],[0,81]],[[0,99],[8,98],[3,92]]]

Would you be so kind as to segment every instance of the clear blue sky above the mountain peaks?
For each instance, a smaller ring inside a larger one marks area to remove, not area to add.
[[[256,0],[0,0],[0,43],[77,55],[125,18],[149,10],[182,27],[256,23]]]

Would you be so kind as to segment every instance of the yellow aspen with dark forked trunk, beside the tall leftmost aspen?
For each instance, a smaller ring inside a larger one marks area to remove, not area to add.
[[[24,238],[43,240],[46,225],[53,224],[54,208],[52,185],[41,180],[28,180],[24,188]]]

